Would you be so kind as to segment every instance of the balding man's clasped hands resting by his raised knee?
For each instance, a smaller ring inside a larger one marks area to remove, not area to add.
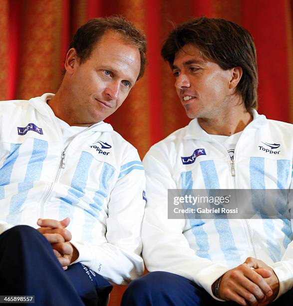
[[[38,219],[37,224],[41,227],[37,230],[50,242],[53,252],[64,269],[70,264],[73,248],[68,241],[71,240],[71,233],[65,227],[70,219],[58,221],[53,219]]]

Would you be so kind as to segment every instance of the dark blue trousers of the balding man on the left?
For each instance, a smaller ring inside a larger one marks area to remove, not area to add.
[[[14,226],[0,235],[0,295],[34,295],[41,306],[105,305],[112,285],[76,263],[63,270],[36,229]]]

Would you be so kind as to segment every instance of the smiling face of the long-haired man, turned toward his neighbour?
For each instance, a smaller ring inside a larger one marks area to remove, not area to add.
[[[185,45],[173,63],[177,94],[190,118],[215,118],[229,110],[231,71],[204,59],[199,49]]]

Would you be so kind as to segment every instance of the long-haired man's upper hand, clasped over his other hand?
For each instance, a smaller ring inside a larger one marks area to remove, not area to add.
[[[227,271],[221,278],[219,297],[241,305],[257,305],[264,302],[273,294],[264,279],[270,277],[272,272],[263,269],[261,274],[263,276],[254,271],[249,263],[240,264]]]

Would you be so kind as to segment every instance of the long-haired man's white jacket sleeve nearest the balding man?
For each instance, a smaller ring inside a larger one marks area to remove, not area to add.
[[[164,152],[157,145],[153,146],[143,164],[147,204],[142,225],[142,254],[146,268],[184,276],[216,298],[211,286],[229,268],[197,256],[183,233],[185,219],[168,219],[168,189],[178,188],[172,177],[168,149]]]

